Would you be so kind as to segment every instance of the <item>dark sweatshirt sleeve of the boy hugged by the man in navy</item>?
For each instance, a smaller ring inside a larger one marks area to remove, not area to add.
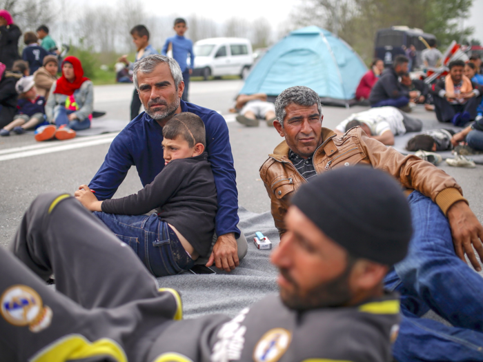
[[[186,159],[173,160],[157,174],[152,183],[139,190],[137,194],[121,199],[104,200],[103,212],[109,214],[141,215],[164,205],[179,189],[186,174],[193,170]]]

